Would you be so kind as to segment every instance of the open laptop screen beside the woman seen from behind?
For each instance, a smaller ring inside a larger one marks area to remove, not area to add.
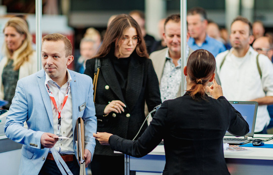
[[[247,121],[249,125],[249,133],[246,136],[253,137],[254,129],[255,129],[255,122],[256,122],[256,115],[258,109],[257,102],[234,102],[230,101],[232,106],[239,111],[244,119]],[[233,136],[229,132],[226,132],[225,136]]]

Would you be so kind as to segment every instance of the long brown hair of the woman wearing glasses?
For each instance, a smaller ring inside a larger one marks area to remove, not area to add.
[[[115,48],[119,49],[119,43],[123,39],[124,32],[130,27],[135,28],[140,38],[140,42],[132,54],[136,53],[140,57],[149,58],[139,24],[131,16],[126,14],[116,16],[110,23],[107,27],[102,46],[93,58],[105,57],[109,53],[114,53]]]

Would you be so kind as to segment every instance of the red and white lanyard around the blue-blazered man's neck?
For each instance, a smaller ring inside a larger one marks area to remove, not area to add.
[[[49,93],[49,96],[50,96],[50,99],[52,100],[53,105],[55,106],[55,108],[57,109],[58,114],[59,114],[59,115],[58,115],[58,130],[57,130],[57,136],[60,136],[61,120],[62,120],[62,118],[61,118],[61,111],[63,110],[63,107],[64,107],[64,105],[65,105],[65,103],[66,103],[66,101],[67,101],[67,98],[68,98],[68,95],[69,95],[69,92],[70,92],[70,83],[69,83],[69,85],[68,85],[68,89],[67,89],[67,92],[66,92],[66,94],[65,94],[64,102],[63,102],[63,104],[62,104],[62,108],[61,108],[60,112],[59,112],[59,110],[58,110],[58,107],[57,107],[55,98],[53,97],[53,94],[52,94],[52,92],[50,91],[49,85],[47,84],[47,81],[45,81],[44,84],[45,84],[45,89],[47,89],[47,91],[48,91],[48,93]]]

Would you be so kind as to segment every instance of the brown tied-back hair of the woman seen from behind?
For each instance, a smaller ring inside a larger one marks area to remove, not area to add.
[[[194,51],[187,63],[187,74],[189,80],[194,84],[190,95],[193,99],[205,99],[205,84],[214,73],[216,61],[214,56],[204,49]]]

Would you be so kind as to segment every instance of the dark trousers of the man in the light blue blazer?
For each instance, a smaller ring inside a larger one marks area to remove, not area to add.
[[[69,161],[69,162],[65,162],[68,166],[68,168],[70,169],[70,171],[73,173],[73,175],[78,175],[79,174],[79,164],[78,161],[76,159],[76,156],[74,155],[73,157],[73,161]],[[62,175],[60,169],[58,168],[55,160],[49,160],[49,159],[45,159],[45,162],[39,172],[38,175]]]

